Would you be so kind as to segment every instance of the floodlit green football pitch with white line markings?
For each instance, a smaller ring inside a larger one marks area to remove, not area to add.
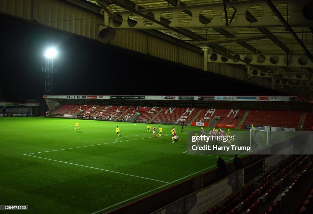
[[[199,127],[176,126],[174,143],[172,125],[161,127],[154,139],[143,123],[2,117],[1,204],[28,205],[23,213],[104,213],[216,168],[217,156],[187,154],[187,131]]]

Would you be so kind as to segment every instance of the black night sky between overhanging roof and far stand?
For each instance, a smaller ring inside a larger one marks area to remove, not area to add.
[[[51,46],[58,51],[54,95],[281,95],[34,26],[0,17],[0,101],[44,95],[42,67]]]

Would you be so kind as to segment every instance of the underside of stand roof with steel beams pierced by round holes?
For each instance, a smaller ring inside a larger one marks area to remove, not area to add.
[[[288,86],[290,90],[313,90],[313,17],[309,9],[313,8],[312,2],[86,1],[105,11],[111,10],[110,23],[116,29],[156,30],[207,50],[208,62],[231,62],[235,67],[248,67],[248,81],[254,77],[273,78],[272,88],[275,84],[281,89]],[[227,8],[227,20],[224,7]],[[121,17],[123,21],[128,20],[128,25],[118,20]],[[237,55],[234,58],[235,53]],[[238,60],[239,56],[242,61]]]

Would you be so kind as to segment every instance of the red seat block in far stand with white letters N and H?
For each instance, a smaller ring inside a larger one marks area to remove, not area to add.
[[[200,109],[197,108],[169,108],[164,110],[153,119],[152,122],[170,122],[170,123],[188,123],[197,114]]]

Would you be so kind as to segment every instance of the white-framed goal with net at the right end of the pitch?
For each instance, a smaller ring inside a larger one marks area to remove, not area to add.
[[[286,139],[284,127],[258,127],[250,129],[250,151],[259,152]]]

